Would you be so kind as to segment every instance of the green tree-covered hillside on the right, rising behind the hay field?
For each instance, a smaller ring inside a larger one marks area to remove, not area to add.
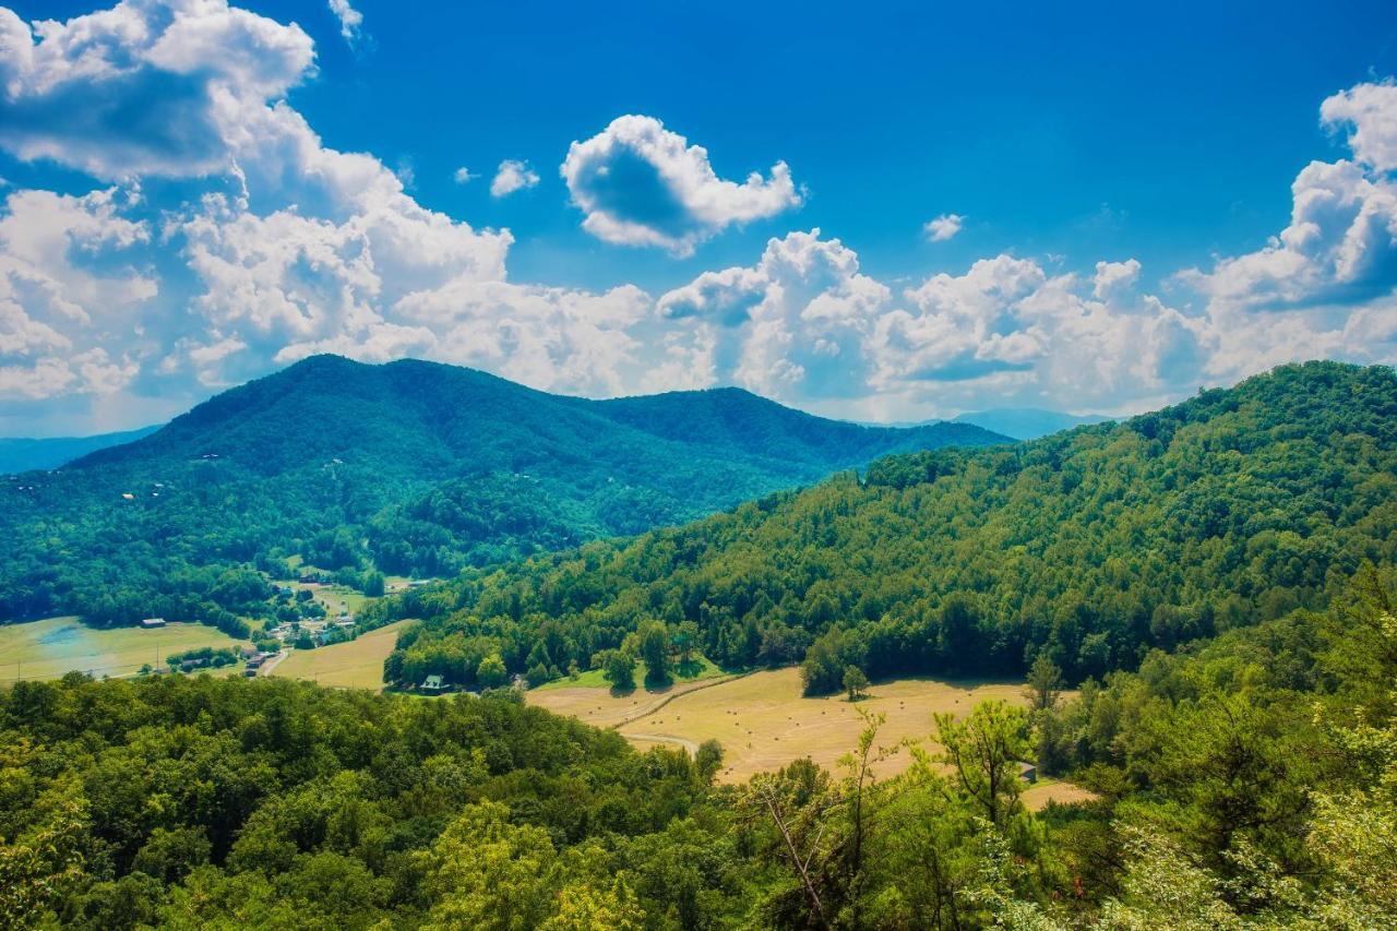
[[[1397,376],[1316,362],[1125,421],[875,461],[802,492],[380,602],[388,681],[461,685],[499,654],[557,678],[641,632],[729,668],[1070,681],[1322,609],[1397,561]]]

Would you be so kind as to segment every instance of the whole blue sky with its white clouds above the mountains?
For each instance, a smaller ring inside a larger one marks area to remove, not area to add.
[[[0,433],[313,351],[863,419],[1397,358],[1390,3],[242,6],[0,24]]]

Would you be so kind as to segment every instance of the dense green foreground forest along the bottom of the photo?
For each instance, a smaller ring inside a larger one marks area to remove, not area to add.
[[[717,744],[640,753],[510,691],[21,682],[0,927],[1393,927],[1391,586],[1363,566],[1070,700],[1044,658],[1031,710],[928,720],[895,779],[873,716],[835,772],[722,787]],[[1094,800],[1028,811],[1020,759]]]

